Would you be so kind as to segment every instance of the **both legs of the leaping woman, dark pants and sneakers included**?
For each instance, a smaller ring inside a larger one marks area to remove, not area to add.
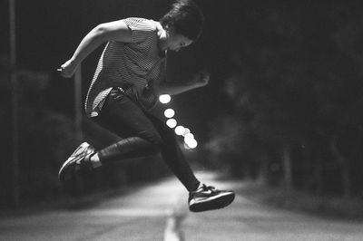
[[[83,143],[78,151],[64,162],[58,174],[61,181],[82,168],[90,168],[94,156],[106,164],[113,160],[141,157],[161,150],[166,164],[190,191],[188,202],[191,211],[201,212],[226,207],[233,201],[233,191],[201,185],[183,158],[173,131],[161,120],[142,111],[121,92],[113,90],[109,94],[96,121],[126,139],[98,152],[88,143]]]

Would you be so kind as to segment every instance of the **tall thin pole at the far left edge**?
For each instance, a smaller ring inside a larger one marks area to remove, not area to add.
[[[9,29],[10,29],[10,80],[12,87],[12,163],[11,185],[12,202],[14,207],[19,206],[19,103],[18,82],[16,74],[16,33],[15,33],[15,0],[9,0]]]

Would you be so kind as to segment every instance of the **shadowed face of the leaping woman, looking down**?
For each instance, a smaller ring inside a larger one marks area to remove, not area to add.
[[[178,52],[183,47],[191,45],[192,41],[182,34],[177,34],[172,29],[166,30],[165,39],[162,41],[162,51]]]

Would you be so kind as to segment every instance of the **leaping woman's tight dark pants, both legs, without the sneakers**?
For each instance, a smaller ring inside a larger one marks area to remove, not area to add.
[[[148,111],[143,111],[120,90],[110,92],[100,115],[94,120],[123,138],[97,152],[103,164],[161,152],[167,166],[185,188],[189,191],[198,188],[200,182],[184,159],[172,129]]]

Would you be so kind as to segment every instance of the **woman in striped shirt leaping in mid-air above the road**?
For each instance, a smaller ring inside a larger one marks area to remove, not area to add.
[[[177,52],[194,43],[201,35],[202,24],[198,6],[190,0],[179,0],[160,22],[126,18],[99,24],[83,38],[59,71],[65,78],[72,77],[77,65],[107,42],[87,94],[85,111],[123,140],[98,151],[84,142],[64,162],[59,171],[61,181],[80,169],[96,169],[116,160],[161,152],[190,192],[191,211],[231,204],[234,193],[201,184],[183,158],[173,131],[148,111],[160,94],[178,94],[209,82],[207,72],[197,73],[189,82],[166,81],[168,51]]]

